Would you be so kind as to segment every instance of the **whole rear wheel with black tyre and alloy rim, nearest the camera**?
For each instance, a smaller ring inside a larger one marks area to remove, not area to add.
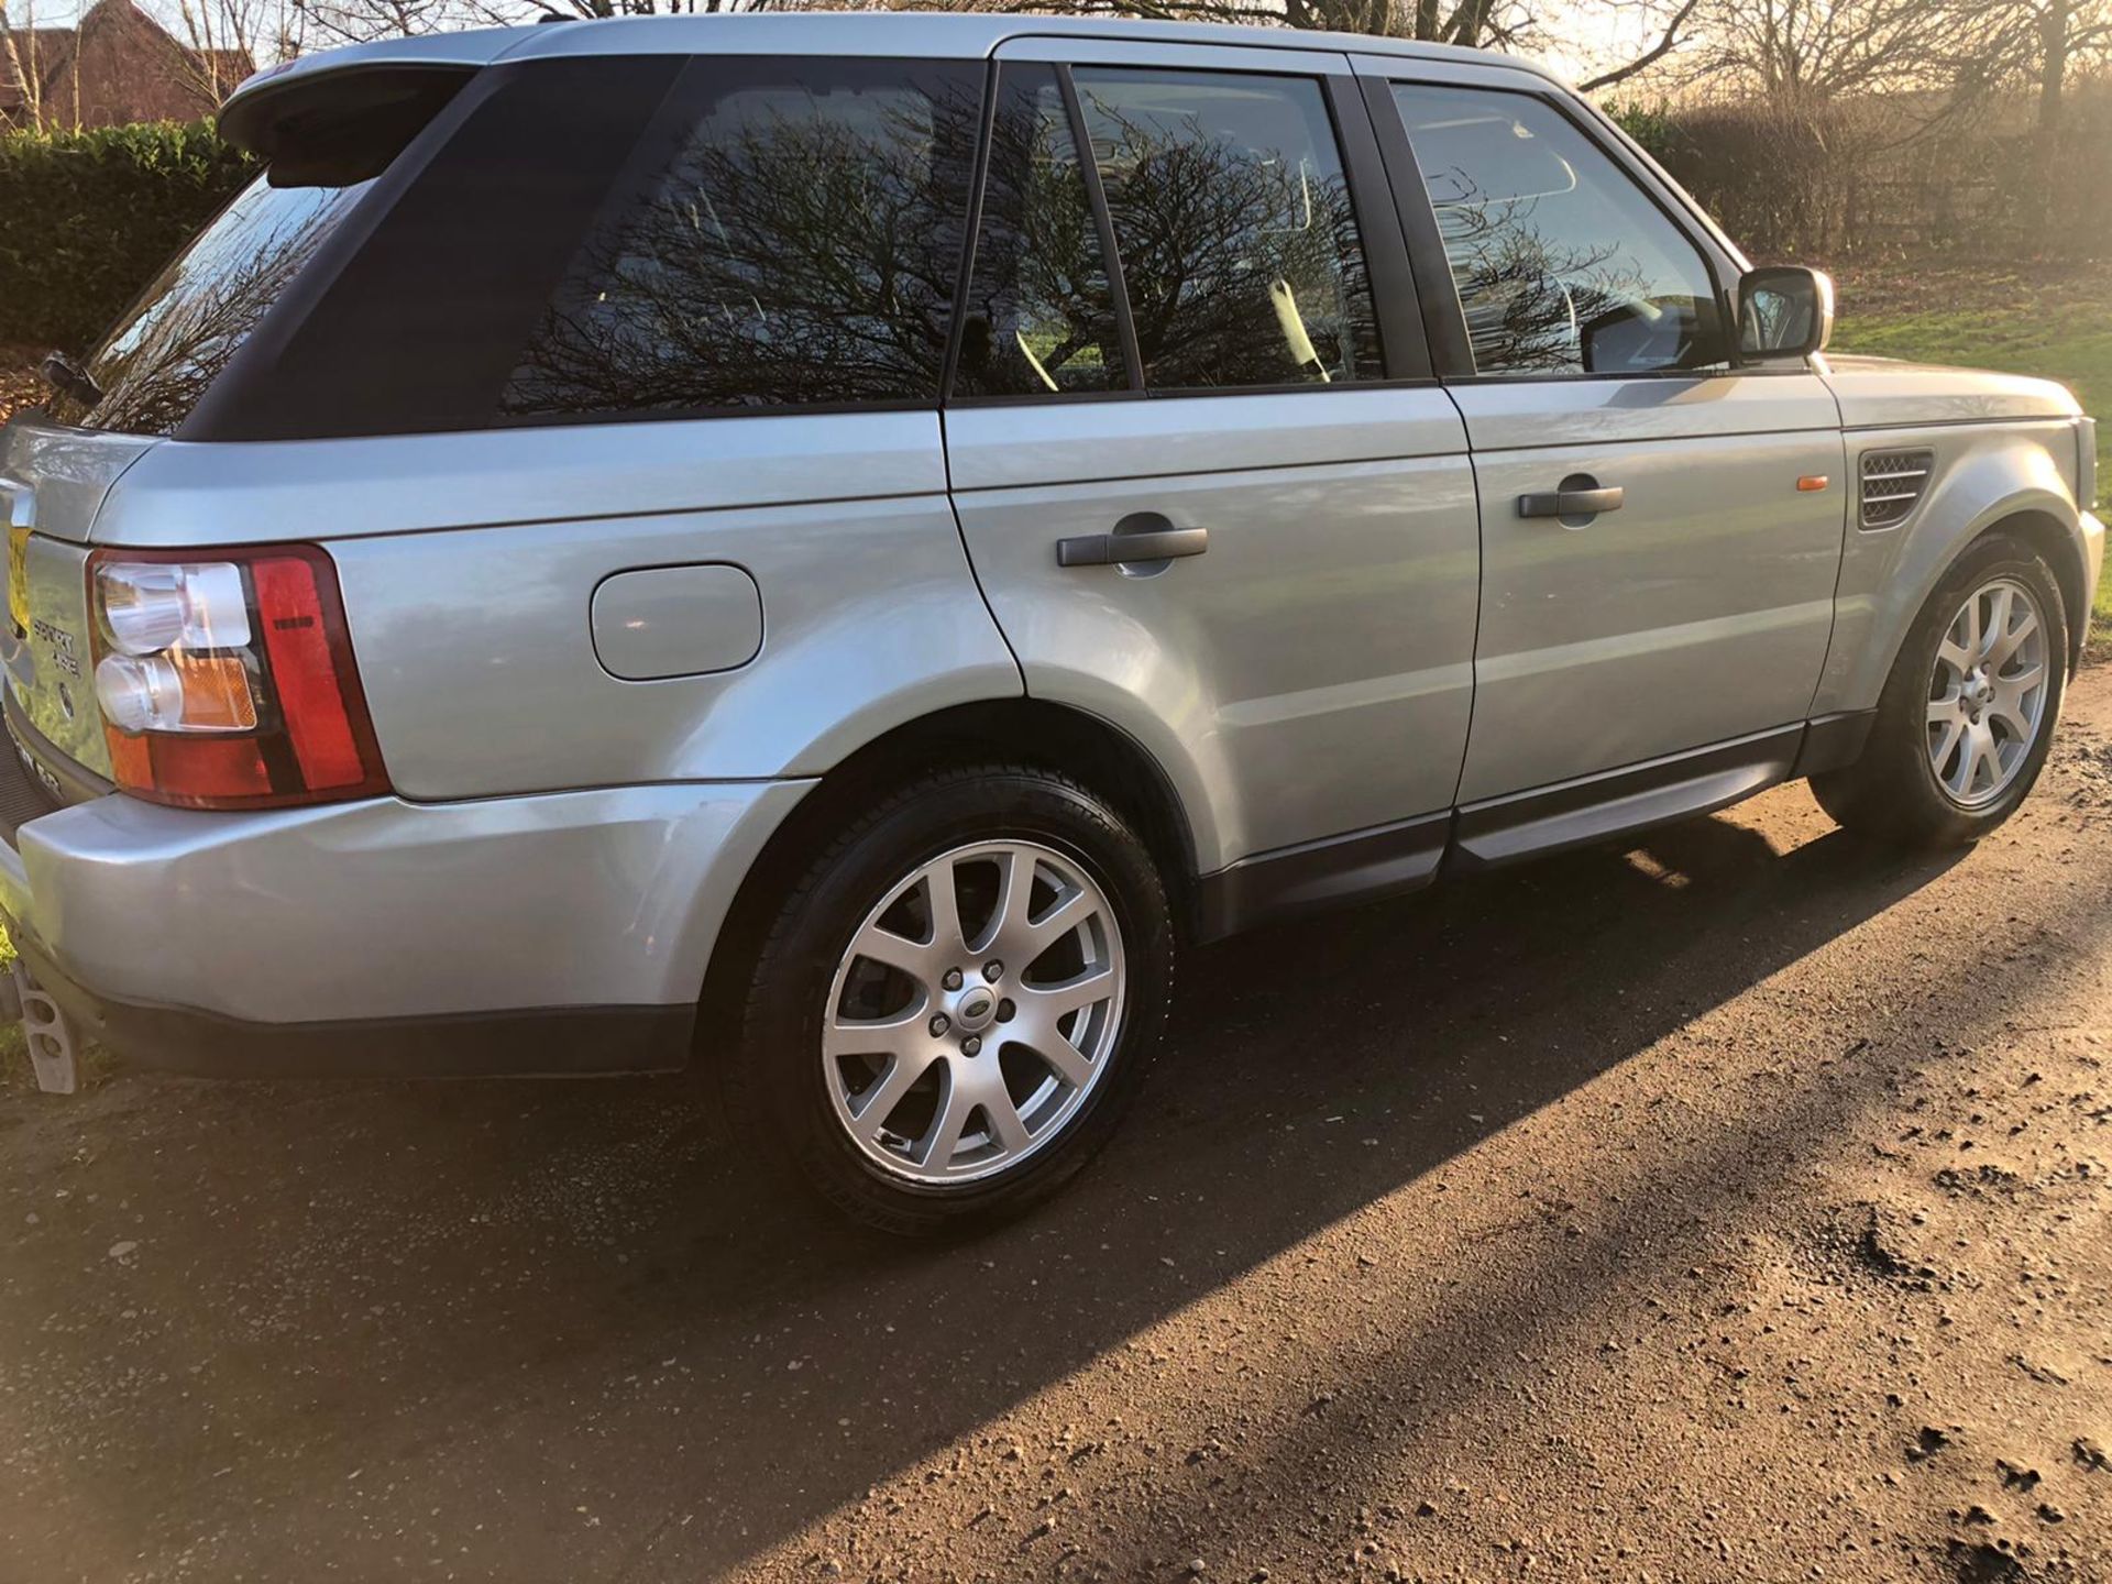
[[[885,1231],[1012,1217],[1113,1134],[1172,969],[1166,885],[1111,803],[1020,765],[931,773],[788,891],[729,1113]]]

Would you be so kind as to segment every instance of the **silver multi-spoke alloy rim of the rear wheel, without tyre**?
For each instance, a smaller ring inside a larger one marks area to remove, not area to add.
[[[866,914],[828,988],[838,1121],[919,1183],[1016,1168],[1107,1073],[1124,967],[1115,910],[1075,857],[1033,841],[940,853]]]

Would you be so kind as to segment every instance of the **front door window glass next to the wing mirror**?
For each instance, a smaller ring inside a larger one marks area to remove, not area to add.
[[[1481,374],[1721,363],[1715,285],[1677,226],[1552,106],[1394,87]]]

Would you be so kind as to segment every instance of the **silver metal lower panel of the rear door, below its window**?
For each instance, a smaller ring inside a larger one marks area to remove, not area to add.
[[[1138,737],[1206,868],[1451,805],[1478,551],[1442,391],[986,408],[946,437],[1029,695]],[[1206,528],[1208,553],[1056,564],[1058,539],[1136,511]]]

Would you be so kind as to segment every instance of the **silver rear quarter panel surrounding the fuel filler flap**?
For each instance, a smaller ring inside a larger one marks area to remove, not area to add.
[[[936,414],[163,446],[97,539],[323,543],[408,798],[817,775],[889,727],[1020,693],[946,503]],[[615,572],[731,564],[762,648],[619,680]]]

